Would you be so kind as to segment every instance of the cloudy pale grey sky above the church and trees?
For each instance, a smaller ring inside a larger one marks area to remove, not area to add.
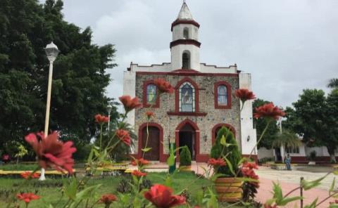
[[[302,89],[338,77],[337,0],[187,0],[201,25],[201,62],[237,63],[258,98],[291,105]],[[95,44],[115,44],[118,67],[108,96],[123,93],[130,62],[170,62],[170,25],[182,0],[64,0],[64,16],[92,27]]]

